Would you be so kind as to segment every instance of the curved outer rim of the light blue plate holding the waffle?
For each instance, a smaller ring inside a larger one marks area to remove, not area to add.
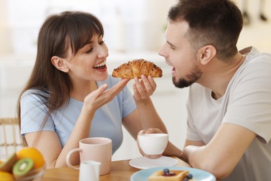
[[[212,173],[210,173],[208,171],[204,171],[204,170],[199,169],[199,168],[186,167],[186,166],[168,166],[168,167],[167,166],[158,166],[158,167],[153,167],[153,168],[147,168],[147,169],[143,169],[143,170],[136,171],[135,173],[133,173],[133,175],[131,175],[131,177],[130,177],[130,180],[135,181],[133,177],[135,177],[135,175],[138,175],[140,173],[145,173],[145,172],[147,172],[149,170],[158,171],[158,170],[161,170],[163,168],[171,168],[171,169],[179,169],[179,170],[188,169],[188,170],[202,171],[202,172],[205,172],[205,173],[208,173],[209,175],[211,175],[211,180],[210,181],[215,181],[216,180],[215,175],[213,175]]]

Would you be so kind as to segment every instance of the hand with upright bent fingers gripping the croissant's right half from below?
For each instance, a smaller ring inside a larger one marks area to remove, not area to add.
[[[156,90],[156,83],[151,76],[141,75],[141,81],[136,77],[133,84],[133,98],[136,101],[144,100]]]

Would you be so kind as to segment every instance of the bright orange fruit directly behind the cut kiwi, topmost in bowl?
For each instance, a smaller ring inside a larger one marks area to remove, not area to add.
[[[30,158],[33,159],[34,162],[34,168],[40,168],[44,166],[45,160],[42,156],[42,153],[37,149],[33,147],[25,147],[22,148],[17,152],[17,158],[18,159],[24,159],[24,158]]]

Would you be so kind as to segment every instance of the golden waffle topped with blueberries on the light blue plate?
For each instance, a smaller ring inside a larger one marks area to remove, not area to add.
[[[183,181],[188,174],[189,171],[170,171],[169,169],[165,168],[163,171],[156,171],[152,173],[149,176],[148,181]]]

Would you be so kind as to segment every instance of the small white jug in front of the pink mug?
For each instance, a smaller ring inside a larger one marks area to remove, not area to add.
[[[86,160],[80,163],[79,181],[99,181],[100,162]]]

